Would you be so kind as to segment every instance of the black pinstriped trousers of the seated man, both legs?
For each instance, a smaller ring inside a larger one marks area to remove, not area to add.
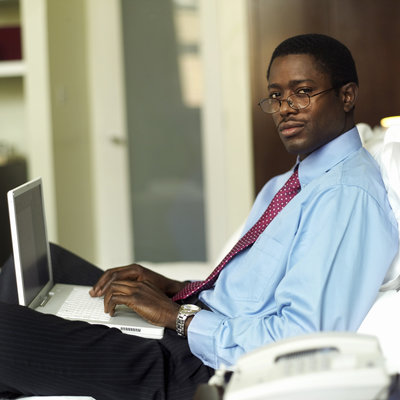
[[[102,271],[52,245],[54,280],[94,284]],[[213,370],[186,339],[163,339],[67,321],[17,304],[13,261],[0,274],[0,397],[86,395],[102,399],[192,399]]]

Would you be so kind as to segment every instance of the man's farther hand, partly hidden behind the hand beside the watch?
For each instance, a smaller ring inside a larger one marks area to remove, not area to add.
[[[184,282],[175,281],[157,274],[138,264],[107,270],[90,290],[92,297],[104,296],[115,281],[148,282],[168,297],[172,297],[185,286]]]

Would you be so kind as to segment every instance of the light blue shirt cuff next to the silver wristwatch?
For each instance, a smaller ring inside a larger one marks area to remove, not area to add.
[[[207,366],[217,369],[218,357],[215,351],[215,337],[218,328],[227,317],[201,310],[190,322],[187,338],[190,351]]]

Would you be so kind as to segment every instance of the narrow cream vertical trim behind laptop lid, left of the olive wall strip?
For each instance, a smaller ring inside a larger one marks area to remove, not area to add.
[[[53,128],[50,105],[47,6],[44,0],[21,0],[23,53],[26,63],[24,103],[26,112],[26,153],[29,178],[41,176],[48,234],[56,241],[57,206]]]

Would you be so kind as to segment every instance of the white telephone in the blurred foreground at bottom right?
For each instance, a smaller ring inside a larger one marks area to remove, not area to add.
[[[374,336],[322,332],[281,340],[241,357],[223,398],[387,399],[390,382]]]

